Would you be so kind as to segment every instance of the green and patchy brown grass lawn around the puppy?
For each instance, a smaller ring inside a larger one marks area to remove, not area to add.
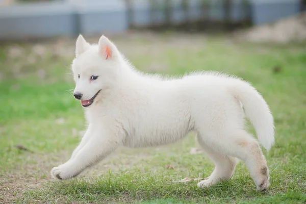
[[[257,192],[242,162],[230,181],[210,189],[198,189],[196,181],[173,183],[213,171],[193,134],[167,146],[120,148],[77,179],[50,179],[52,167],[69,158],[85,128],[83,108],[71,94],[74,39],[58,39],[0,46],[0,203],[306,202],[305,44],[178,34],[111,39],[144,71],[217,70],[252,83],[275,118],[276,142],[264,151],[270,188]]]

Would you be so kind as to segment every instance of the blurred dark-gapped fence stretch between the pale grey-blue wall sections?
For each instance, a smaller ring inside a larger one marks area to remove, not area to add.
[[[205,30],[222,24],[228,29],[251,20],[250,4],[245,0],[125,2],[130,28]]]

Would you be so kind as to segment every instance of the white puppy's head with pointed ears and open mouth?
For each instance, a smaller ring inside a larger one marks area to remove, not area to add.
[[[109,88],[116,81],[120,53],[105,36],[100,37],[97,45],[91,45],[80,34],[75,45],[73,95],[81,100],[83,107],[89,107],[98,100],[96,97],[101,90]]]

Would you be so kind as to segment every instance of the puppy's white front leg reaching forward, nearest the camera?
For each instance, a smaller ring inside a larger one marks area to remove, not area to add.
[[[108,156],[119,142],[116,136],[106,131],[94,131],[86,144],[65,164],[54,167],[51,175],[59,180],[71,179]]]

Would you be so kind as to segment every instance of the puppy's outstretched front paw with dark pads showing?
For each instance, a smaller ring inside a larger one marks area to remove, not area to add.
[[[71,179],[79,174],[80,173],[75,172],[75,168],[73,168],[69,162],[61,164],[58,167],[54,167],[51,170],[52,177],[58,180]]]

